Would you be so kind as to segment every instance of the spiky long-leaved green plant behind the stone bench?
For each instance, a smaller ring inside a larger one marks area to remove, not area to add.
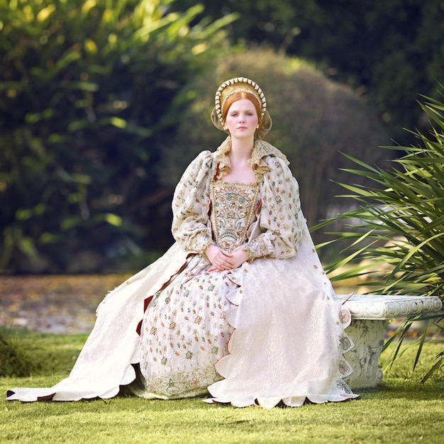
[[[443,85],[439,93],[444,98]],[[357,165],[345,171],[367,177],[372,185],[340,184],[349,193],[341,197],[353,199],[354,208],[312,228],[343,222],[343,231],[330,233],[335,239],[322,245],[346,245],[341,250],[345,257],[326,267],[328,273],[336,272],[333,281],[360,278],[372,288],[370,294],[436,295],[444,300],[444,103],[426,96],[422,99],[419,104],[428,116],[430,130],[426,134],[410,131],[418,140],[416,146],[382,147],[404,150],[389,170],[344,154]],[[340,271],[345,265],[347,270]],[[392,362],[412,323],[427,321],[418,339],[415,369],[428,331],[434,326],[442,333],[443,320],[444,315],[438,313],[401,322],[386,344],[399,341]],[[444,365],[444,351],[435,360],[424,381]]]

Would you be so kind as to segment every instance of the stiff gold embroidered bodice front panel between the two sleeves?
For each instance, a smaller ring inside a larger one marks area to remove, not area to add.
[[[245,243],[248,227],[255,219],[259,185],[211,182],[214,237],[223,250],[233,251]]]

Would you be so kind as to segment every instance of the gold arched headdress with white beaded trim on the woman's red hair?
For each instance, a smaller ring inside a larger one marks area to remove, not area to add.
[[[216,91],[216,96],[214,98],[215,106],[211,112],[211,121],[213,125],[216,126],[221,131],[227,130],[223,126],[223,106],[229,96],[235,94],[236,92],[244,91],[255,96],[257,103],[260,104],[262,125],[259,131],[256,133],[257,138],[263,138],[272,127],[272,119],[267,111],[267,101],[265,100],[265,94],[260,89],[259,85],[248,79],[247,77],[235,77],[234,79],[227,80],[223,82]]]

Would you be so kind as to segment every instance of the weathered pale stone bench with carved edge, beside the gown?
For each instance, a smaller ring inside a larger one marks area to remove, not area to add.
[[[340,299],[347,295],[338,294]],[[385,323],[388,319],[407,318],[442,309],[438,296],[387,296],[384,294],[355,294],[345,301],[352,313],[350,326],[345,330],[355,347],[345,353],[353,373],[345,382],[352,389],[375,387],[382,382],[379,355],[384,346]]]

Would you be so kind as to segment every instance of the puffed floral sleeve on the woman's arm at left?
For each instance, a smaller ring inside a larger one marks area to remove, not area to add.
[[[211,152],[201,152],[174,191],[172,235],[185,251],[203,254],[213,243],[209,223],[211,165]]]

